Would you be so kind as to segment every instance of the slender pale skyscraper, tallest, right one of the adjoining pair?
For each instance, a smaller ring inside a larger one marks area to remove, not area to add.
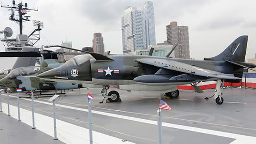
[[[142,6],[143,48],[156,44],[155,14],[153,2],[146,1]]]

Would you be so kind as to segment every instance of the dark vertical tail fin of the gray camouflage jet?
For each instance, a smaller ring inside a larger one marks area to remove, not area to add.
[[[233,41],[222,53],[212,58],[204,58],[204,60],[216,60],[232,62],[244,62],[248,36],[240,36]]]

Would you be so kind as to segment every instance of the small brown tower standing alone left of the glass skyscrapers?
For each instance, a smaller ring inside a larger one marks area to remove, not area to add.
[[[94,33],[92,39],[92,48],[94,53],[105,53],[103,38],[101,33]]]

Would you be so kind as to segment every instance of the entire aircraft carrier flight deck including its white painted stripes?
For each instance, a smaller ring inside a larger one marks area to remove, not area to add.
[[[122,102],[99,103],[100,89],[76,89],[56,98],[57,137],[53,140],[53,106],[49,97],[34,99],[35,127],[31,129],[31,98],[20,98],[17,121],[17,94],[2,92],[0,113],[1,144],[87,144],[89,120],[87,92],[92,100],[92,130],[95,144],[156,144],[159,97],[170,107],[162,110],[164,144],[253,144],[256,142],[256,91],[223,89],[225,101],[215,103],[214,89],[198,94],[181,91],[180,98],[165,99],[153,93],[121,91]],[[20,97],[27,96],[19,93]]]

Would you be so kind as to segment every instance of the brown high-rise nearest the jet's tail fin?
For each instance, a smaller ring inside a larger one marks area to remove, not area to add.
[[[188,26],[178,26],[177,22],[170,22],[166,26],[167,43],[175,46],[175,58],[190,58]]]

